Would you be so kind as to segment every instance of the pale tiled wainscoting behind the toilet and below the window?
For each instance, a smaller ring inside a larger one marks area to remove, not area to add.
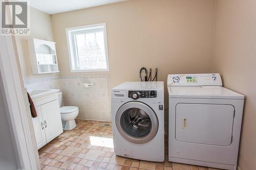
[[[83,83],[92,83],[84,88]],[[28,90],[60,89],[65,106],[77,106],[77,118],[111,120],[109,75],[59,76],[25,81]]]

